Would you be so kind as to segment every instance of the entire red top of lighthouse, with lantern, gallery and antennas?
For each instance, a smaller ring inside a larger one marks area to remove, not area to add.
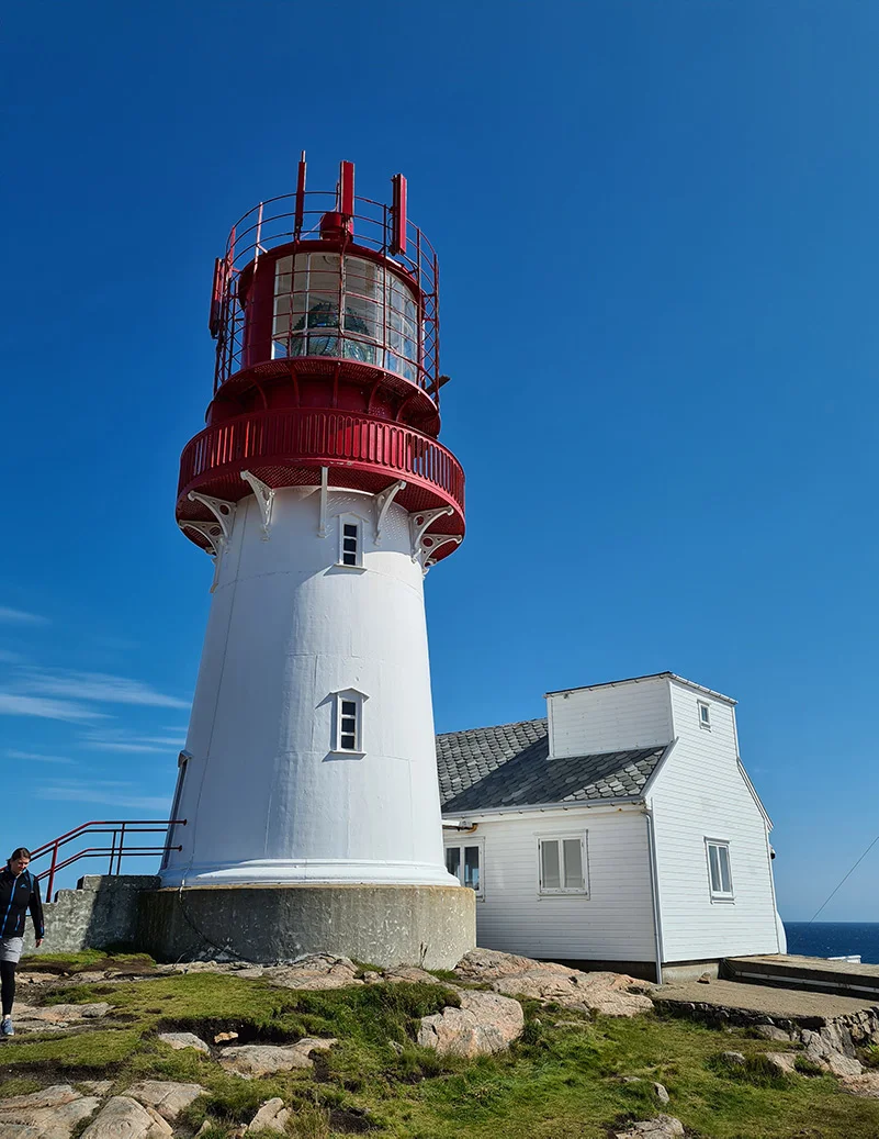
[[[436,440],[436,254],[408,219],[403,175],[392,186],[389,205],[356,197],[343,162],[335,191],[306,190],[303,154],[296,192],[232,227],[211,301],[214,398],[183,450],[176,506],[211,554],[222,527],[204,499],[260,484],[395,487],[426,565],[463,535],[463,472]]]

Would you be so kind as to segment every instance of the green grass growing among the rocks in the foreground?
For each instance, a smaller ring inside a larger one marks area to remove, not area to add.
[[[0,1095],[89,1077],[113,1079],[116,1092],[146,1077],[197,1082],[207,1095],[183,1122],[195,1131],[210,1118],[203,1139],[228,1139],[273,1096],[295,1108],[294,1139],[364,1130],[376,1139],[606,1139],[611,1124],[659,1111],[681,1118],[692,1139],[879,1136],[879,1101],[843,1092],[812,1066],[806,1071],[802,1052],[802,1074],[780,1076],[763,1059],[766,1041],[680,1018],[591,1019],[526,1001],[518,1044],[465,1060],[414,1044],[419,1018],[455,1002],[442,984],[296,992],[196,973],[68,985],[46,1000],[106,1000],[120,1027],[0,1046]],[[317,1059],[313,1072],[247,1081],[224,1072],[215,1057],[170,1049],[157,1036],[164,1030],[196,1032],[208,1043],[215,1032],[235,1031],[241,1041],[318,1035],[339,1044]],[[728,1050],[741,1052],[745,1063],[730,1064],[722,1055]],[[668,1089],[666,1108],[654,1082]]]

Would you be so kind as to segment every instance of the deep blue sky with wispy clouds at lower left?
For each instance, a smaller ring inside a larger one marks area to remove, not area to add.
[[[213,259],[304,147],[313,187],[402,170],[440,252],[437,729],[666,669],[736,696],[811,917],[879,829],[877,49],[851,0],[13,7],[0,845],[166,810]],[[822,918],[879,920],[878,866]]]

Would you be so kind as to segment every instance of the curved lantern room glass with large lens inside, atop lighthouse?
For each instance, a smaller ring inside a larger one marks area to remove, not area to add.
[[[279,257],[272,359],[305,355],[361,360],[414,383],[419,336],[413,293],[396,273],[365,257]]]

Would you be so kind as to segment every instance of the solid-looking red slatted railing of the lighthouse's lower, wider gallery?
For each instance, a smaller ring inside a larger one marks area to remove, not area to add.
[[[238,416],[190,440],[180,459],[180,493],[197,478],[245,460],[380,468],[438,492],[463,515],[463,470],[452,452],[385,419],[298,408]]]

